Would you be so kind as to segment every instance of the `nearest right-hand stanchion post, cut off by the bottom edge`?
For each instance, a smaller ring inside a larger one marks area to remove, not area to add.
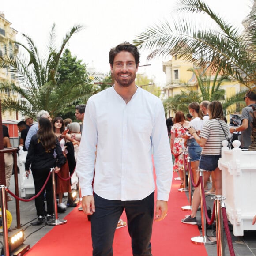
[[[222,217],[222,211],[221,204],[225,197],[222,197],[221,195],[216,195],[212,197],[212,199],[215,199],[215,216],[216,216],[216,238],[217,238],[217,255],[223,256],[224,254],[224,239],[223,239],[223,217]],[[225,205],[224,205],[225,207]]]

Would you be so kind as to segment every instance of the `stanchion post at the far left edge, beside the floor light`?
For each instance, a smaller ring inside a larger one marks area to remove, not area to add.
[[[4,256],[9,256],[9,241],[6,217],[6,198],[5,198],[5,185],[0,186],[0,202],[2,210],[2,227],[3,227],[3,240],[4,240]]]

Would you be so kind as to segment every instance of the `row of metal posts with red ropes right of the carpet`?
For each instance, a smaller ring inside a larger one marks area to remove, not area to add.
[[[185,161],[183,161],[185,163]],[[184,168],[185,169],[185,168]],[[204,193],[204,182],[203,182],[203,169],[199,169],[199,179],[197,183],[193,180],[192,170],[190,166],[190,160],[188,159],[188,192],[189,192],[189,198],[191,198],[191,190],[192,186],[198,187],[200,185],[200,200],[201,200],[201,220],[202,220],[202,236],[200,237],[192,237],[191,241],[196,244],[203,244],[203,245],[210,245],[217,243],[217,255],[223,256],[224,255],[224,242],[223,242],[223,224],[224,229],[226,233],[227,243],[229,247],[230,256],[235,256],[232,239],[230,235],[230,230],[228,226],[228,218],[226,215],[226,207],[224,204],[225,197],[222,197],[221,195],[216,195],[211,197],[214,201],[213,204],[213,211],[211,219],[207,215],[207,204],[206,204],[206,198]],[[184,180],[185,180],[184,175]],[[192,205],[190,200],[190,206]],[[186,206],[187,207],[187,206]],[[192,208],[192,207],[191,207]],[[184,209],[182,209],[184,210]],[[216,238],[208,237],[206,234],[206,222],[208,225],[212,225],[212,223],[216,221]]]

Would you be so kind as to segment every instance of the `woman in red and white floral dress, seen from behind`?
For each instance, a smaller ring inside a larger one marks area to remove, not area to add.
[[[183,173],[183,152],[185,159],[188,157],[187,148],[184,146],[185,134],[189,122],[185,119],[182,111],[177,111],[175,114],[174,125],[171,129],[171,151],[175,157],[173,170],[179,172],[181,178],[181,188],[184,188],[184,173]]]

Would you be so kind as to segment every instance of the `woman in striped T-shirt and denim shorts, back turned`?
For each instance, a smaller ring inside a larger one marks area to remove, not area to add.
[[[196,142],[203,147],[199,168],[204,169],[204,182],[208,180],[211,171],[215,173],[216,195],[222,195],[222,175],[218,169],[218,159],[221,157],[222,141],[229,136],[229,126],[225,123],[221,102],[213,101],[208,106],[210,119],[205,122],[200,135],[193,127],[188,128],[188,132]],[[200,186],[195,188],[192,200],[192,212],[181,222],[196,225],[196,211],[200,205]]]

